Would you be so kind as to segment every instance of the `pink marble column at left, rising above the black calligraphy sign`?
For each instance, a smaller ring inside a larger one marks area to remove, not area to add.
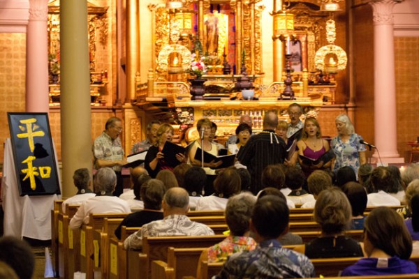
[[[48,112],[48,0],[29,0],[26,111]]]

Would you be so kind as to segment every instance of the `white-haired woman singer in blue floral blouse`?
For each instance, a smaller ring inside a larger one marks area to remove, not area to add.
[[[335,119],[337,137],[334,137],[331,143],[332,149],[336,154],[335,163],[332,170],[337,172],[341,167],[349,166],[358,176],[360,165],[367,163],[365,156],[365,145],[360,144],[362,137],[355,134],[355,129],[351,119],[346,114],[340,114]]]

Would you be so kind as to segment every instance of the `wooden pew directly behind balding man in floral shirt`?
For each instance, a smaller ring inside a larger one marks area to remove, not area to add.
[[[160,236],[142,239],[140,255],[133,255],[133,250],[128,251],[128,278],[149,278],[151,265],[154,260],[167,261],[168,247],[173,248],[202,248],[210,247],[225,239],[226,236]],[[130,253],[131,252],[131,253]],[[136,266],[136,269],[131,269]]]

